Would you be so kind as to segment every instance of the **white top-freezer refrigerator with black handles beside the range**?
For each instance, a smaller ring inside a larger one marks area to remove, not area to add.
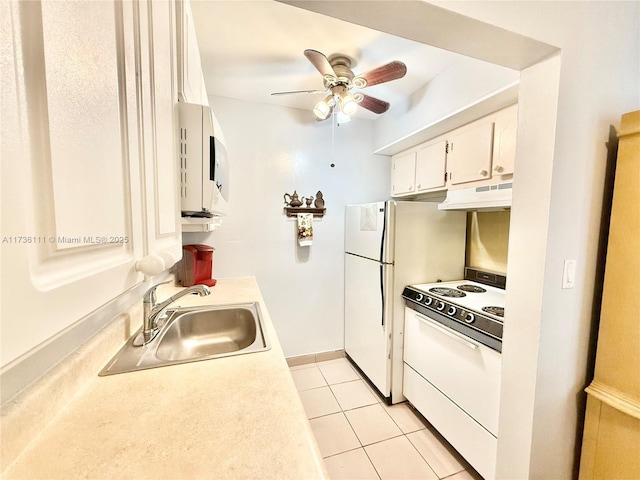
[[[462,279],[465,242],[466,212],[434,202],[346,206],[345,352],[389,404],[404,400],[402,290]]]

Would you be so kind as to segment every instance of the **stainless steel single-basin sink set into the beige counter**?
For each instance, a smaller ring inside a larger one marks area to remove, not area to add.
[[[99,373],[100,376],[213,358],[262,352],[271,348],[256,302],[167,311],[160,333],[150,343],[134,345],[133,335]]]

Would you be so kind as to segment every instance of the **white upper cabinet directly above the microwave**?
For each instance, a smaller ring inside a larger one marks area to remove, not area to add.
[[[188,0],[176,2],[178,32],[178,93],[180,101],[209,105],[193,12]]]

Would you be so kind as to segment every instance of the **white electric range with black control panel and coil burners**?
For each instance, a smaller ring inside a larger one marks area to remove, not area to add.
[[[403,394],[484,477],[495,477],[506,278],[408,285]]]

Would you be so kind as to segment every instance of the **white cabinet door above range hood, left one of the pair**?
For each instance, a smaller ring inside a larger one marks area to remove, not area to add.
[[[453,185],[491,178],[493,121],[480,120],[450,137],[447,168]]]

